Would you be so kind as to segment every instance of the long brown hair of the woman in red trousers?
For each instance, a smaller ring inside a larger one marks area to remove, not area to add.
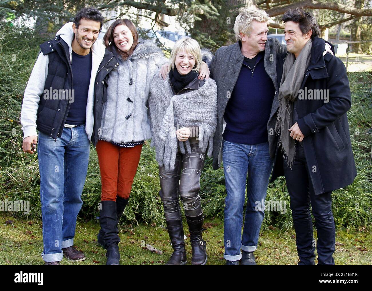
[[[116,26],[118,25],[125,25],[129,30],[132,32],[133,35],[133,43],[131,48],[128,52],[123,52],[120,49],[118,49],[114,42],[114,30]],[[134,49],[136,48],[138,44],[138,32],[134,24],[129,19],[117,19],[115,20],[112,25],[110,25],[109,29],[105,33],[105,36],[103,37],[103,43],[105,43],[106,48],[111,52],[116,52],[116,54],[119,54],[121,56],[121,59],[125,61],[131,54],[133,54]]]

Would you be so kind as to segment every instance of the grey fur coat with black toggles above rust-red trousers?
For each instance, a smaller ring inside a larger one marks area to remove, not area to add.
[[[150,139],[150,83],[168,60],[150,41],[140,41],[125,61],[117,54],[116,59],[120,65],[109,74],[99,139],[116,143]]]

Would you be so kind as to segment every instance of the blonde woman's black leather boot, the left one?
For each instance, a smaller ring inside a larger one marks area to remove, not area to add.
[[[171,245],[173,248],[173,253],[168,262],[165,265],[185,265],[186,259],[186,247],[185,239],[183,237],[183,226],[182,220],[170,220],[167,221],[167,229],[169,233],[169,238],[171,240]]]

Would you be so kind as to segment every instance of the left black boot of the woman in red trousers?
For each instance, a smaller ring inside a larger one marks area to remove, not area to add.
[[[102,209],[99,212],[99,222],[102,230],[102,243],[106,246],[106,265],[120,265],[120,242],[118,218],[115,201],[101,201]]]

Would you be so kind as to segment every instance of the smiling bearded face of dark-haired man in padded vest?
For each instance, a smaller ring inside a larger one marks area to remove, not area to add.
[[[101,24],[94,20],[81,19],[77,28],[73,23],[72,28],[75,33],[75,41],[81,49],[90,49],[99,35]]]

